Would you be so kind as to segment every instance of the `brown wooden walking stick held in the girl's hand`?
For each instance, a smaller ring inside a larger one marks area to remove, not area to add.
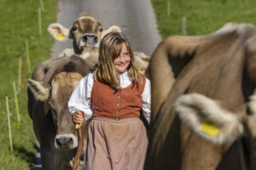
[[[79,167],[79,160],[83,151],[84,147],[84,139],[83,139],[83,130],[82,130],[82,123],[81,124],[76,124],[76,129],[78,131],[78,139],[79,139],[79,144],[78,144],[78,149],[76,156],[73,160],[73,168],[72,170],[77,170]]]

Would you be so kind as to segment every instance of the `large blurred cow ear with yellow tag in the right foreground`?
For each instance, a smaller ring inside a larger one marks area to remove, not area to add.
[[[181,120],[213,144],[233,141],[243,133],[240,116],[227,108],[201,94],[184,94],[174,103]]]

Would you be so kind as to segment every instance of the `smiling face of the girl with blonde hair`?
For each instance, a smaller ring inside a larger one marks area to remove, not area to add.
[[[131,56],[127,51],[125,43],[123,43],[123,48],[118,58],[113,60],[114,68],[119,71],[119,73],[123,73],[127,70],[128,66],[131,63]]]

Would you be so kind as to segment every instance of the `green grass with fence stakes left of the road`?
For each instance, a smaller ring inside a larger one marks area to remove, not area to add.
[[[44,0],[42,12],[42,30],[38,34],[39,0],[1,0],[0,3],[0,169],[31,169],[35,161],[35,136],[32,121],[26,109],[26,87],[20,88],[18,94],[20,106],[20,126],[17,126],[13,82],[18,87],[19,58],[26,59],[26,40],[29,44],[31,68],[38,62],[49,59],[53,38],[47,32],[49,23],[55,22],[55,0]],[[27,71],[26,78],[32,73]],[[26,82],[25,82],[26,83]],[[21,83],[21,85],[23,82]],[[25,91],[23,90],[25,89]],[[9,128],[5,96],[9,96],[9,107],[12,115],[11,129],[14,150],[10,151]]]

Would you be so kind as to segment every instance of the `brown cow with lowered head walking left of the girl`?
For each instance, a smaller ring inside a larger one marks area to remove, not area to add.
[[[45,60],[27,81],[28,112],[41,146],[43,169],[72,167],[78,139],[67,102],[73,88],[94,64],[75,55]]]

